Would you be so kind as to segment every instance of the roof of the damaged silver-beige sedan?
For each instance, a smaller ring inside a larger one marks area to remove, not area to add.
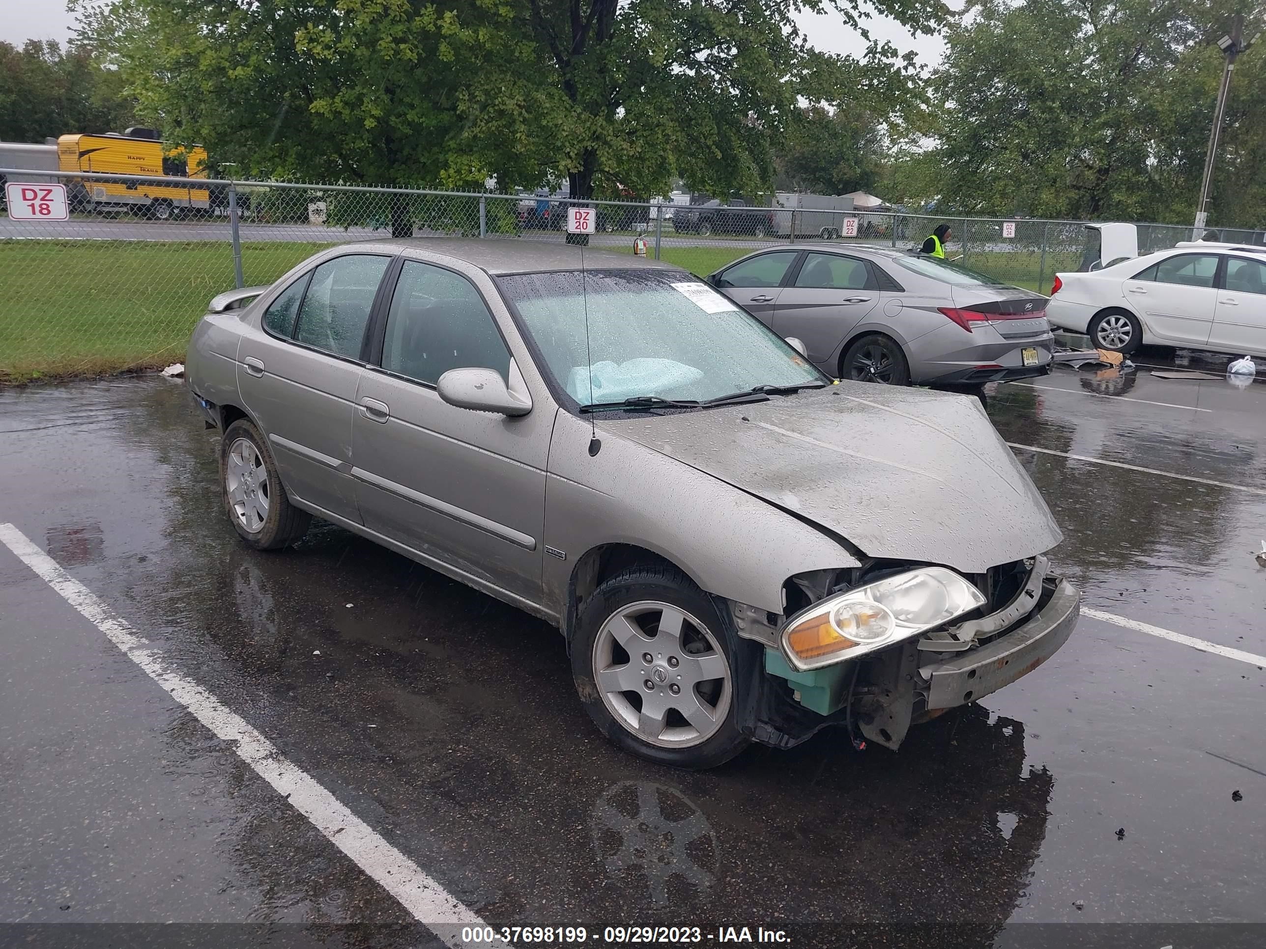
[[[486,273],[538,273],[542,271],[579,271],[581,268],[580,248],[561,240],[523,240],[519,238],[462,239],[462,238],[384,238],[347,244],[344,248],[363,247],[376,251],[391,249],[408,254],[422,251],[425,254],[438,254],[473,264]],[[638,257],[617,251],[585,248],[585,270],[667,270],[681,271],[665,261]]]

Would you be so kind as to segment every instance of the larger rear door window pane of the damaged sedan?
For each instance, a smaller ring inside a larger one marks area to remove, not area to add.
[[[390,257],[347,254],[313,271],[299,307],[295,339],[351,359],[361,357],[365,326]]]

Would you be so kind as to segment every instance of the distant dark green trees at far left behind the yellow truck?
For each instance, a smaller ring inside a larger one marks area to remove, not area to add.
[[[0,43],[0,139],[43,142],[75,132],[119,132],[134,104],[123,77],[86,47]]]

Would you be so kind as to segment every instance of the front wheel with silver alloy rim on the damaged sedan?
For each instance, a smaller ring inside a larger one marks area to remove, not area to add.
[[[576,621],[571,668],[599,730],[630,754],[714,768],[747,747],[738,644],[711,599],[668,567],[601,583]]]

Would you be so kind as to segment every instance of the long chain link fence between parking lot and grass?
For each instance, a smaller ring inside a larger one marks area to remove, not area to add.
[[[948,224],[947,256],[1050,291],[1086,249],[1080,221],[985,220],[734,204],[568,201],[201,178],[0,170],[14,183],[66,185],[63,220],[0,208],[0,383],[160,367],[182,358],[208,300],[266,285],[332,244],[390,237],[565,242],[567,208],[595,210],[591,247],[644,252],[700,276],[761,247],[829,240],[914,249]],[[1260,232],[1223,239],[1262,243]],[[1191,229],[1138,225],[1139,253]]]

